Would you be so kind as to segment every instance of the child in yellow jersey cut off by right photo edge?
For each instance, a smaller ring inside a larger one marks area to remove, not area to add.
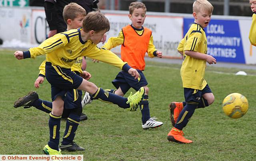
[[[256,46],[256,0],[250,0],[252,15],[252,25],[249,33],[250,43]]]

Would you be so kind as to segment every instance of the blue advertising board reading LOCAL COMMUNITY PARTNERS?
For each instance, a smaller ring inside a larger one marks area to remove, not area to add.
[[[183,36],[194,19],[184,18]],[[204,28],[207,37],[207,53],[217,62],[245,63],[244,49],[238,20],[211,20]]]

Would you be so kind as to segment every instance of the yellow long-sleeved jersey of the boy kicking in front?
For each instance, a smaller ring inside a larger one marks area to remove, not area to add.
[[[91,40],[83,41],[81,29],[70,29],[46,39],[38,47],[29,49],[30,57],[46,54],[46,62],[70,69],[78,57],[86,56],[122,69],[124,63],[117,55],[100,49]]]

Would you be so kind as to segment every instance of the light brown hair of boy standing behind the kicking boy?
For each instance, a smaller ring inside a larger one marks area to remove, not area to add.
[[[63,16],[66,24],[68,24],[68,22],[67,22],[68,19],[74,20],[75,18],[77,18],[80,15],[86,16],[86,10],[84,8],[82,8],[82,6],[80,6],[79,4],[72,2],[68,5],[66,5],[63,9],[62,16]]]

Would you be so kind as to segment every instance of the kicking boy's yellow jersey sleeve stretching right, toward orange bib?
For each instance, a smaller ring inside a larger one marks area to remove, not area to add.
[[[113,65],[120,69],[123,68],[126,62],[124,63],[116,54],[112,51],[104,48],[99,48],[97,45],[90,45],[83,53],[82,56],[90,57],[91,59],[96,59],[104,63]]]

